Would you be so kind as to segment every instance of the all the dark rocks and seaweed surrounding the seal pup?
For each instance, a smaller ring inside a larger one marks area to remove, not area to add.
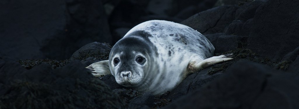
[[[299,108],[298,5],[292,0],[0,1],[5,16],[0,109]],[[112,75],[94,78],[84,68],[107,60],[117,40],[151,19],[188,25],[211,41],[215,55],[233,53],[234,60],[188,75],[161,96],[120,86]]]

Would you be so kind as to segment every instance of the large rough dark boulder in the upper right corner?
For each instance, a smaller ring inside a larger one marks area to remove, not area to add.
[[[299,46],[299,1],[269,0],[257,8],[248,49],[273,61]]]

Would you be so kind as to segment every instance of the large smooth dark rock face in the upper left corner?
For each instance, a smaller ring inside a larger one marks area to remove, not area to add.
[[[64,32],[65,11],[61,0],[0,1],[0,16],[5,16],[0,18],[0,54],[13,60],[45,58],[41,44]]]

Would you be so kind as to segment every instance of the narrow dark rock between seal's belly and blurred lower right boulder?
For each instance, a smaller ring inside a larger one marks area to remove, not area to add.
[[[208,75],[208,69],[210,69],[210,67],[187,76],[187,78],[185,78],[175,89],[170,91],[170,94],[168,94],[166,98],[176,100],[181,96],[192,93],[194,90],[199,89],[222,74],[215,73],[213,75]]]

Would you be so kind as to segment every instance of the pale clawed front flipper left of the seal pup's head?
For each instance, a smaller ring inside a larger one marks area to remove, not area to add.
[[[100,77],[101,75],[111,75],[109,69],[109,60],[102,60],[90,64],[88,67],[85,67],[91,71],[91,74],[95,77]]]

